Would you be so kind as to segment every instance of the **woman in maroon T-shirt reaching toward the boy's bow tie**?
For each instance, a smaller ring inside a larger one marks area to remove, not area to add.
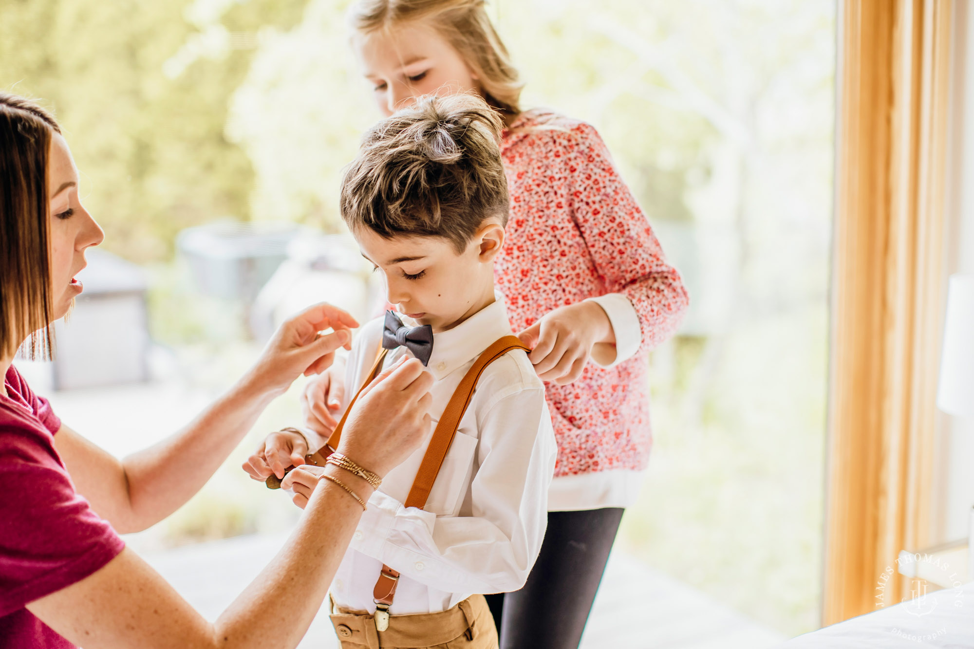
[[[55,120],[0,94],[0,645],[294,647],[356,528],[358,499],[371,494],[365,479],[329,465],[307,503],[295,495],[307,505],[297,529],[213,624],[118,533],[185,503],[298,374],[331,363],[356,322],[328,305],[291,319],[193,423],[120,462],[62,425],[12,365],[28,337],[32,356],[50,357],[49,327],[83,289],[73,278],[103,235],[78,197]],[[419,362],[385,373],[359,399],[341,452],[384,476],[427,430],[430,385]]]

